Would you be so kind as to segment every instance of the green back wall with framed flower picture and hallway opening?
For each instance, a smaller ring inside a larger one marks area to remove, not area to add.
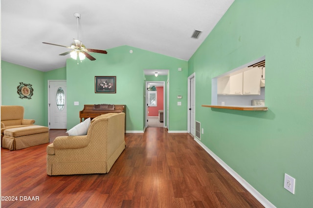
[[[131,54],[129,51],[133,50]],[[108,54],[92,54],[96,61],[67,60],[67,128],[79,123],[79,111],[84,104],[126,104],[126,129],[144,128],[144,69],[169,69],[170,94],[187,97],[188,63],[146,50],[120,46],[108,49]],[[183,70],[178,71],[181,67]],[[116,93],[94,93],[94,76],[116,76]],[[184,96],[185,95],[185,96]],[[74,101],[79,105],[74,106]],[[170,130],[187,129],[187,99],[177,106],[170,102]],[[185,122],[181,122],[185,121]]]

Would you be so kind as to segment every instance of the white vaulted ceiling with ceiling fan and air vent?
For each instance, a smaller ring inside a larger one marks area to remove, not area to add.
[[[189,60],[234,0],[2,0],[1,58],[41,71],[64,67],[69,46],[129,45]],[[81,14],[79,37],[74,13]],[[194,30],[202,31],[192,39]]]

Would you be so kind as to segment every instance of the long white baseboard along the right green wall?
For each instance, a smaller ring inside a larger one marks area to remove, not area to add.
[[[214,152],[212,152],[208,147],[203,145],[199,139],[195,138],[195,141],[211,155],[214,160],[216,160],[230,175],[232,175],[243,187],[249,191],[256,200],[258,200],[266,208],[275,208],[275,206],[270,203],[262,194],[260,194],[254,187],[252,187],[245,179],[243,179],[238,173],[236,173],[230,166],[228,166],[224,161],[219,158]]]

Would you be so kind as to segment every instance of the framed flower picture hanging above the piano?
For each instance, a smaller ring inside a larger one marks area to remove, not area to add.
[[[116,93],[116,76],[95,76],[95,93]]]

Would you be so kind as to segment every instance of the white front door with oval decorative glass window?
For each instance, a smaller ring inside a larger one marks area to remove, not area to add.
[[[48,122],[51,129],[67,129],[67,82],[48,81]]]

